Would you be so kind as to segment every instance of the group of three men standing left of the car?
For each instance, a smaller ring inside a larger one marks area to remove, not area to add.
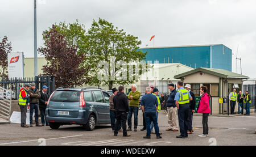
[[[46,106],[48,103],[49,95],[47,94],[47,86],[42,87],[42,91],[39,91],[38,88],[36,88],[35,83],[30,84],[24,84],[24,87],[20,89],[19,94],[19,107],[20,107],[20,126],[23,128],[28,128],[29,126],[26,125],[26,119],[27,119],[27,109],[28,109],[28,103],[30,104],[30,127],[32,127],[33,123],[33,113],[35,113],[35,126],[48,126],[49,122],[46,120]],[[41,116],[41,122],[39,123],[39,115],[38,111],[40,109],[40,116]]]

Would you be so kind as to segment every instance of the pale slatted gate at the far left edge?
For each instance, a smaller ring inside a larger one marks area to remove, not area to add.
[[[10,123],[12,91],[0,87],[0,124]]]

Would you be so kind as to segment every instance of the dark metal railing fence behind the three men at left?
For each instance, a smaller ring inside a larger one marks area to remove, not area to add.
[[[32,77],[32,78],[0,78],[0,87],[7,90],[11,90],[11,97],[14,100],[18,100],[19,90],[24,87],[25,83],[35,82],[36,88],[42,90],[42,87],[46,85],[48,87],[48,94],[51,94],[55,90],[55,77]]]

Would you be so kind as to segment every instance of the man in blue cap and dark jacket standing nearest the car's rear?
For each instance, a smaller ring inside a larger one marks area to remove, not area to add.
[[[46,123],[46,126],[49,125],[49,122],[46,120],[46,106],[48,103],[49,95],[47,94],[47,86],[42,87],[42,91],[40,91],[40,99],[39,99],[39,109],[40,109],[40,115],[41,115],[41,122],[42,126],[44,126],[44,122]]]

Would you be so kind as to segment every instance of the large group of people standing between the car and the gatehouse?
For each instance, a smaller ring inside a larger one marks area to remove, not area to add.
[[[187,138],[188,134],[193,133],[192,120],[193,113],[195,112],[195,95],[191,91],[191,85],[186,84],[183,87],[183,82],[177,82],[176,90],[173,83],[168,84],[170,95],[167,100],[168,111],[168,129],[166,131],[179,131],[180,135],[176,138]],[[134,114],[134,131],[137,131],[138,126],[138,111],[139,111],[139,98],[141,93],[137,91],[137,86],[131,86],[131,92],[127,96],[124,93],[124,87],[119,86],[112,89],[113,95],[110,96],[110,119],[114,135],[117,136],[118,132],[123,133],[123,137],[129,137],[127,131],[131,131],[131,117]],[[158,96],[158,89],[153,86],[146,87],[146,95],[141,98],[141,108],[143,112],[143,130],[147,130],[146,136],[143,138],[151,138],[151,134],[156,134],[156,138],[162,138],[158,126],[158,114],[161,111],[162,101],[164,100],[163,94]],[[201,99],[197,107],[197,113],[203,113],[203,134],[199,137],[208,137],[208,116],[210,113],[209,99],[207,94],[207,87],[200,88]],[[126,121],[128,129],[126,128]],[[152,130],[155,128],[155,132]],[[122,128],[122,129],[121,129]]]

